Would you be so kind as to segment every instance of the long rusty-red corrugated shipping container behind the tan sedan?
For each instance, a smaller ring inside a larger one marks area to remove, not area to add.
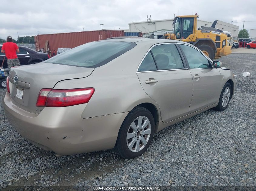
[[[123,30],[93,30],[74,33],[39,34],[34,38],[36,51],[45,48],[45,42],[48,40],[49,50],[52,50],[52,52],[56,50],[56,54],[58,48],[74,48],[88,42],[111,37],[123,37],[124,35]]]

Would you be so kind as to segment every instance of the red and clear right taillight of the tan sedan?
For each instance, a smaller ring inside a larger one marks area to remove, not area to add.
[[[94,88],[67,90],[42,89],[37,98],[37,107],[67,107],[88,103]]]

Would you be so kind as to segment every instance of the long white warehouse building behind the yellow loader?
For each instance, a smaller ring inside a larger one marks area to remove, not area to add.
[[[142,32],[142,33],[150,33],[154,31],[161,30],[162,33],[169,32],[172,30],[172,22],[173,19],[164,19],[164,20],[155,20],[151,21],[142,21],[142,22],[132,22],[129,23],[129,29],[125,30],[125,32]],[[211,27],[212,22],[202,21],[197,19],[197,28],[201,27]],[[225,23],[223,21],[219,21],[216,24],[216,28],[224,31],[231,32],[232,37],[238,36],[238,26],[230,23]]]

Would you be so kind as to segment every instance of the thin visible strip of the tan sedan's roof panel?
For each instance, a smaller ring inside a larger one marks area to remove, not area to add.
[[[105,39],[102,41],[121,41],[121,42],[131,42],[131,43],[137,43],[140,41],[148,42],[149,44],[157,44],[157,43],[184,43],[186,42],[180,41],[180,40],[170,40],[170,39],[150,39],[150,38],[111,38],[111,39]]]

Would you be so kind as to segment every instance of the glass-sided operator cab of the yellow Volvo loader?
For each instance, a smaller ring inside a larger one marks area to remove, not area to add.
[[[172,39],[192,41],[196,33],[196,16],[175,17],[173,21]]]

